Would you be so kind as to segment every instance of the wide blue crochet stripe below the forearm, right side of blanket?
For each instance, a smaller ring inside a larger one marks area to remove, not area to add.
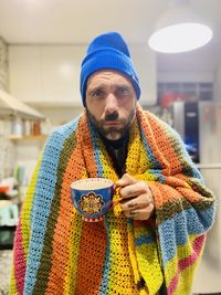
[[[189,235],[202,234],[211,224],[210,217],[213,215],[210,209],[196,212],[193,208],[185,210],[168,219],[159,225],[160,246],[162,264],[166,264],[176,256],[177,246],[188,243]],[[173,231],[171,232],[171,229]]]

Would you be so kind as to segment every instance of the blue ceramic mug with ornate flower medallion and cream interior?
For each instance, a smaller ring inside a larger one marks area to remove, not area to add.
[[[71,194],[83,220],[96,222],[113,207],[115,185],[106,178],[88,178],[72,182]]]

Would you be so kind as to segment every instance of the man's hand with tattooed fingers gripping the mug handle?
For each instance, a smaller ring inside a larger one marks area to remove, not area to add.
[[[136,180],[128,173],[116,182],[120,188],[122,209],[127,218],[147,220],[150,218],[155,207],[152,193],[145,181]]]

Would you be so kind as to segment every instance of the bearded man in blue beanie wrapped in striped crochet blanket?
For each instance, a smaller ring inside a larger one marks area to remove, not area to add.
[[[179,136],[138,105],[118,33],[90,44],[81,95],[84,114],[52,134],[30,183],[10,294],[190,294],[214,196]],[[71,183],[91,177],[119,187],[102,222],[83,221],[71,202]]]

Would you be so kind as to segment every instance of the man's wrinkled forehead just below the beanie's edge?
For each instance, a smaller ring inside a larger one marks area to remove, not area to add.
[[[128,77],[113,70],[98,71],[90,76],[87,81],[87,86],[94,86],[99,84],[124,84],[133,87],[133,84]]]

